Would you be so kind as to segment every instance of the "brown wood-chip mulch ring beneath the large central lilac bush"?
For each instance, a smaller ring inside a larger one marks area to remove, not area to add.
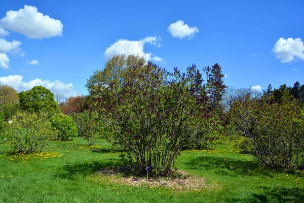
[[[116,184],[127,184],[135,187],[157,187],[165,186],[176,189],[178,191],[191,191],[202,190],[207,187],[205,179],[198,176],[192,176],[187,172],[178,170],[170,178],[155,178],[149,177],[148,181],[146,177],[128,175],[125,172],[129,171],[128,166],[116,166],[103,168],[98,175],[106,176],[110,178],[110,181]]]

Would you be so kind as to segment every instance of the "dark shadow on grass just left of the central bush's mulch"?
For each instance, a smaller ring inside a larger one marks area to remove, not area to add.
[[[97,162],[81,164],[66,164],[63,167],[64,173],[56,175],[55,177],[74,180],[78,177],[90,176],[96,172],[102,171],[104,168],[115,167],[121,165],[120,161]]]

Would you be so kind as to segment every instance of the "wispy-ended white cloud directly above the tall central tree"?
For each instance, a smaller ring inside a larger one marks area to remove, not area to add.
[[[138,54],[140,56],[143,56],[146,61],[148,60],[162,61],[163,59],[158,56],[152,57],[154,55],[153,53],[145,53],[143,51],[144,45],[146,43],[155,45],[157,47],[162,46],[159,41],[161,41],[160,37],[147,37],[139,41],[129,41],[129,40],[120,39],[116,43],[112,44],[110,47],[106,48],[104,52],[104,58],[107,60],[116,54],[126,54],[126,55]]]

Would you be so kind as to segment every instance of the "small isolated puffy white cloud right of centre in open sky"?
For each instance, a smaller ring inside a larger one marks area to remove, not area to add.
[[[196,33],[199,32],[199,28],[197,27],[189,27],[189,25],[185,24],[183,20],[177,20],[175,23],[171,23],[168,27],[168,32],[174,38],[193,38]]]

